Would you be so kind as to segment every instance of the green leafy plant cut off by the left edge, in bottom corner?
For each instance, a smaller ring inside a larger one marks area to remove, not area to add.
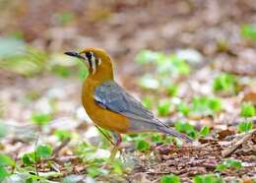
[[[11,174],[8,172],[8,166],[15,166],[15,161],[4,153],[0,153],[0,182]]]

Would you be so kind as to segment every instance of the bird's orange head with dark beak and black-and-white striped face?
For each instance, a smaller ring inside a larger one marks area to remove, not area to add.
[[[79,52],[67,51],[65,54],[83,60],[89,69],[89,77],[96,78],[96,80],[113,79],[111,59],[104,50],[95,47],[88,47]]]

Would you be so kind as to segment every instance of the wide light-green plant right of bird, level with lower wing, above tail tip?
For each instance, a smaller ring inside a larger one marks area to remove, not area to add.
[[[192,112],[201,115],[214,115],[222,110],[222,101],[217,97],[194,97],[192,100]]]

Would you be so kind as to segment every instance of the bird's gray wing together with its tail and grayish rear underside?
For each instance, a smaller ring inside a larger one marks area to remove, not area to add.
[[[160,131],[189,143],[192,140],[186,135],[180,134],[154,117],[153,113],[147,110],[140,101],[125,92],[115,82],[104,82],[95,90],[96,103],[102,108],[123,114],[131,122],[130,130],[134,132]]]

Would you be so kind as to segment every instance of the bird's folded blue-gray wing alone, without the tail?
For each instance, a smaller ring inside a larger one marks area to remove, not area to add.
[[[95,100],[99,106],[128,115],[128,117],[133,116],[145,120],[154,119],[151,111],[113,81],[104,82],[96,87]]]

